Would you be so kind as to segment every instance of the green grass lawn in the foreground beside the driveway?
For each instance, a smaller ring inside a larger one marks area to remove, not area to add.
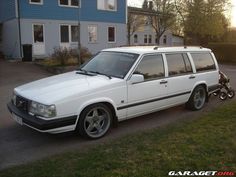
[[[194,121],[0,172],[1,177],[154,177],[171,170],[236,172],[236,102]]]

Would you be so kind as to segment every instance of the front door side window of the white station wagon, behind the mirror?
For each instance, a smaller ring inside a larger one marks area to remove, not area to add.
[[[161,55],[144,56],[134,74],[142,74],[145,80],[157,79],[165,76],[164,63]]]

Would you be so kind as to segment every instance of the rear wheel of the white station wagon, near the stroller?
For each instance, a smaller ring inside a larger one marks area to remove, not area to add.
[[[199,85],[197,86],[193,92],[189,101],[186,104],[186,107],[192,111],[200,110],[204,107],[206,102],[206,89],[204,86]]]

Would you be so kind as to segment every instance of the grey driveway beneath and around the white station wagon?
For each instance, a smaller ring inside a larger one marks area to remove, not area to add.
[[[220,68],[231,78],[232,86],[236,88],[236,66],[221,65]],[[0,170],[61,152],[83,150],[110,139],[164,126],[178,120],[195,119],[200,114],[210,112],[225,103],[212,97],[206,107],[198,112],[185,110],[184,106],[174,107],[121,122],[118,128],[112,129],[104,138],[88,141],[74,133],[59,135],[38,133],[18,125],[11,119],[6,104],[11,98],[13,88],[46,76],[50,74],[32,63],[0,60]]]

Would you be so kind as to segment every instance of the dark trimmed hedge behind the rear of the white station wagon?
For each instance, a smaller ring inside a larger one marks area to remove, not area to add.
[[[211,43],[207,47],[212,49],[220,63],[236,64],[236,43]]]

